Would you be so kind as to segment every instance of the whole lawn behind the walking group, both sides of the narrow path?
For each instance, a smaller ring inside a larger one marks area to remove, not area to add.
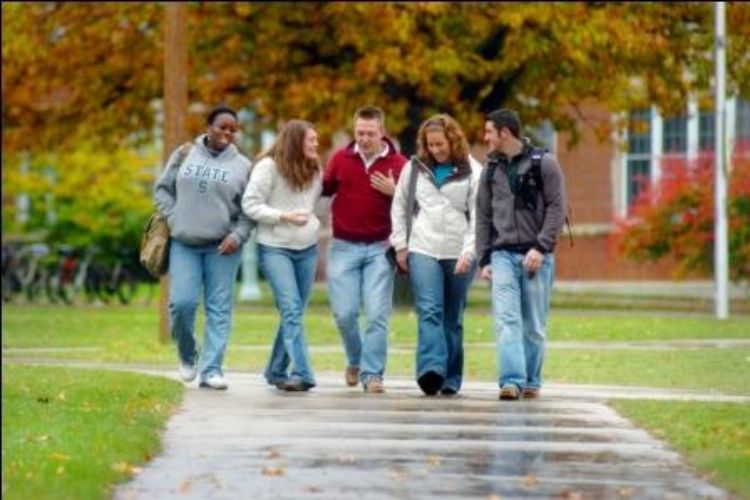
[[[228,369],[260,370],[264,367],[278,317],[268,307],[239,307],[227,355]],[[5,306],[2,346],[7,348],[96,347],[96,351],[7,352],[6,357],[56,357],[118,363],[175,364],[171,344],[157,338],[157,311],[144,307],[70,308],[62,306]],[[198,331],[202,331],[199,315]],[[310,344],[339,346],[340,340],[328,309],[312,308],[305,320]],[[491,343],[491,319],[486,312],[469,311],[465,318],[466,376],[496,378],[495,349],[472,346]],[[414,373],[414,313],[398,310],[391,321],[392,352],[388,373]],[[630,316],[590,313],[552,313],[550,339],[560,341],[634,341],[747,338],[750,318],[717,321],[700,316]],[[242,349],[254,345],[259,350]],[[338,372],[345,364],[343,350],[312,353],[316,371]],[[566,383],[643,385],[664,388],[716,390],[750,394],[750,349],[555,349],[548,352],[547,381]]]

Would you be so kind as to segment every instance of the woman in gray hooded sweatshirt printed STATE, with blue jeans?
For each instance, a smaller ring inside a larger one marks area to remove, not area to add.
[[[205,134],[172,153],[154,199],[171,236],[169,315],[180,378],[192,382],[200,371],[200,387],[221,390],[227,388],[222,364],[240,249],[253,227],[240,204],[251,164],[233,144],[239,128],[233,109],[218,106],[206,121]],[[206,308],[202,355],[195,336],[201,291]]]

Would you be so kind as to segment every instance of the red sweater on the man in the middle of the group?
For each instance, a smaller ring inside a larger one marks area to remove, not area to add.
[[[388,154],[375,160],[369,170],[354,142],[338,150],[328,161],[323,177],[323,196],[333,196],[331,217],[333,237],[358,243],[373,243],[388,239],[391,234],[391,197],[370,185],[370,176],[389,172],[398,181],[406,158],[396,151],[388,139]]]

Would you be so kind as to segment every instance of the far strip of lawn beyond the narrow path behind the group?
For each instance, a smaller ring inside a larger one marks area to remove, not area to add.
[[[203,317],[198,315],[198,330]],[[157,340],[156,307],[67,307],[3,305],[2,346],[88,347],[107,346],[115,340],[150,343]],[[272,307],[241,305],[234,315],[232,342],[270,344],[278,325]],[[339,336],[328,308],[310,308],[305,327],[311,345],[334,344]],[[414,344],[416,317],[397,309],[390,322],[392,344]],[[492,342],[488,310],[468,309],[464,318],[466,343]],[[675,339],[748,338],[750,316],[717,321],[710,316],[641,315],[553,310],[551,341],[643,341]]]

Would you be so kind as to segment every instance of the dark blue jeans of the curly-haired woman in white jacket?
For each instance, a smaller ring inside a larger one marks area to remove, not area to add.
[[[443,388],[461,389],[464,368],[466,293],[476,266],[455,274],[456,259],[409,253],[409,278],[418,318],[417,379],[427,372],[443,377]]]

